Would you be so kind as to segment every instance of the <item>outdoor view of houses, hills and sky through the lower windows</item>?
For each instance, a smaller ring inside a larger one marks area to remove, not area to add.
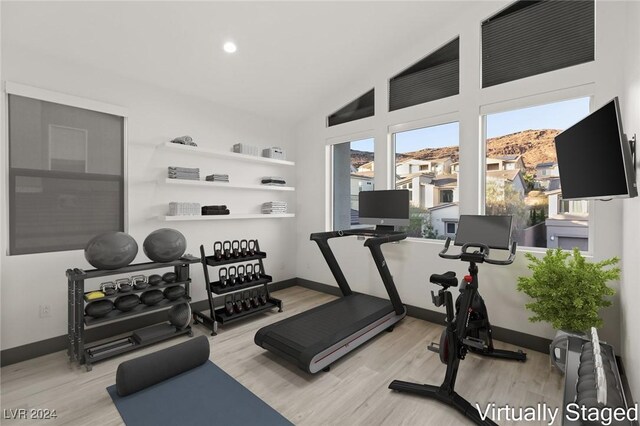
[[[562,199],[554,146],[557,134],[588,113],[589,98],[582,98],[486,116],[485,213],[513,215],[519,245],[588,249],[588,203]],[[394,135],[396,188],[411,192],[411,237],[456,233],[464,167],[458,134],[458,123],[448,123]],[[351,143],[354,226],[358,193],[373,190],[372,151],[371,139]]]

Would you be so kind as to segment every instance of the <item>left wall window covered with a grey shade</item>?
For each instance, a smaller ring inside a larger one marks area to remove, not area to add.
[[[9,94],[9,252],[124,230],[124,118]]]

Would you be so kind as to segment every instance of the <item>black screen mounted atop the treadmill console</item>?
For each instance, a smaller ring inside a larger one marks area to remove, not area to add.
[[[360,223],[368,225],[409,225],[409,191],[390,189],[362,191],[358,204]]]

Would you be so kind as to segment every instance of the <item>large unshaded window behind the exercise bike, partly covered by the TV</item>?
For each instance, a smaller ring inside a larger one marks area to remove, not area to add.
[[[562,201],[554,137],[589,114],[589,101],[580,98],[485,117],[485,213],[513,215],[520,246],[556,248],[560,241],[570,241],[588,249],[588,203]]]

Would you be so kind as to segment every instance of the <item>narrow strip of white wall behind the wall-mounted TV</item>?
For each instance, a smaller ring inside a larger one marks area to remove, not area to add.
[[[622,109],[622,125],[629,137],[634,133],[640,136],[640,3],[629,2],[627,5],[627,35],[626,49],[623,49],[626,60],[624,63],[625,79],[624,91],[620,98]],[[637,138],[637,137],[636,137]],[[636,156],[640,158],[640,147],[636,148]],[[638,160],[640,166],[640,160]],[[636,168],[636,176],[640,176],[640,167]],[[636,178],[637,179],[637,178]],[[631,393],[636,401],[640,399],[640,256],[638,256],[638,241],[640,241],[640,197],[624,202],[624,232],[623,238],[623,276],[620,288],[622,356],[629,375]]]

